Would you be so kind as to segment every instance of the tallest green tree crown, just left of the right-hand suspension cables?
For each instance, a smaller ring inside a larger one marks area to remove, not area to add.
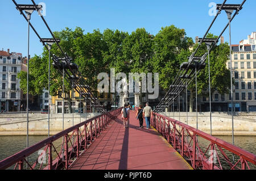
[[[179,70],[179,54],[187,52],[193,44],[191,38],[185,36],[185,30],[174,25],[162,27],[154,39],[154,56],[150,64],[153,72],[159,73],[159,85],[168,90]]]

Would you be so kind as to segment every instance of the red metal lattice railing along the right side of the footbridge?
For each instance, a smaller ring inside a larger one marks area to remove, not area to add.
[[[153,113],[151,125],[187,160],[193,169],[250,169],[256,155],[180,121]],[[233,159],[234,155],[234,159]],[[233,161],[234,160],[234,161]]]

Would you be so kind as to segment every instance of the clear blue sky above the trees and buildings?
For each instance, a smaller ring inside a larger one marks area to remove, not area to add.
[[[31,4],[30,0],[17,0],[19,4]],[[87,1],[87,0],[35,0],[36,3],[46,3],[44,17],[52,31],[61,31],[65,27],[81,27],[85,32],[94,29],[104,31],[106,28],[132,32],[144,27],[153,35],[161,27],[174,24],[184,28],[187,36],[195,39],[202,37],[212,22],[209,16],[210,2],[222,3],[223,0],[130,0],[130,1]],[[242,0],[228,0],[227,3],[241,3]],[[0,1],[0,49],[20,52],[27,56],[27,23],[15,9],[11,0]],[[256,31],[255,23],[256,1],[247,0],[240,14],[232,22],[232,44],[238,44],[247,35]],[[41,37],[51,37],[37,12],[32,14],[31,23]],[[218,16],[210,32],[218,35],[228,23],[224,11]],[[224,40],[229,41],[228,30],[224,33]],[[31,31],[30,54],[42,53],[42,44]]]

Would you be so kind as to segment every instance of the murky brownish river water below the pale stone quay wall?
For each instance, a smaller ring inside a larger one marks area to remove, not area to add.
[[[221,140],[232,144],[231,136],[216,136]],[[26,148],[26,136],[0,136],[0,160],[17,153]],[[30,146],[46,139],[47,136],[30,136]],[[256,136],[235,136],[236,146],[256,155]],[[200,145],[208,145],[203,139],[199,139]],[[256,170],[256,166],[250,165],[251,169]]]

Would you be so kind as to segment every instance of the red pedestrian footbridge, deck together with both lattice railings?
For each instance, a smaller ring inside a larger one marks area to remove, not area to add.
[[[145,129],[130,111],[129,128],[123,128],[121,109],[22,150],[1,161],[0,169],[218,170],[256,165],[256,155],[158,113],[151,117],[151,129]]]

